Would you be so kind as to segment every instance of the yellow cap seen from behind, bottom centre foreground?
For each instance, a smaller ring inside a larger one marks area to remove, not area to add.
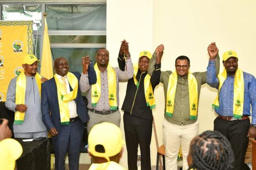
[[[88,136],[89,152],[108,161],[122,150],[123,144],[120,128],[108,122],[94,125]]]

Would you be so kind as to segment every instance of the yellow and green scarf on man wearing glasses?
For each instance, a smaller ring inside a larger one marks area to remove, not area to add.
[[[197,80],[194,75],[188,71],[188,92],[189,92],[189,111],[190,120],[195,120],[197,118],[197,108],[198,108],[198,87]],[[167,95],[166,95],[166,113],[167,117],[172,117],[174,112],[174,100],[176,93],[178,75],[174,71],[172,75],[169,76]]]

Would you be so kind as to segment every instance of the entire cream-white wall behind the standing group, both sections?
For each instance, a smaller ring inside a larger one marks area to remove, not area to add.
[[[157,45],[163,43],[165,51],[162,70],[174,70],[175,59],[186,55],[191,61],[191,71],[205,71],[208,64],[207,46],[215,41],[221,59],[225,51],[234,50],[239,56],[239,67],[256,76],[255,7],[256,2],[253,0],[109,0],[106,44],[110,51],[110,63],[117,66],[120,41],[125,38],[130,43],[133,62],[137,62],[140,51],[153,52]],[[120,83],[120,107],[125,89],[126,83]],[[156,88],[155,95],[157,108],[154,116],[158,140],[162,144],[162,85]],[[202,86],[199,102],[200,132],[213,129],[216,115],[211,110],[211,103],[216,95],[217,90],[207,85]],[[152,165],[155,165],[157,152],[154,134],[151,145],[151,160]],[[127,168],[126,160],[125,151],[120,163]]]

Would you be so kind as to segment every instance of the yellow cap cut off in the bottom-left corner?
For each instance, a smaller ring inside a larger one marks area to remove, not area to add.
[[[8,138],[0,141],[0,151],[0,169],[13,170],[23,149],[17,140]]]

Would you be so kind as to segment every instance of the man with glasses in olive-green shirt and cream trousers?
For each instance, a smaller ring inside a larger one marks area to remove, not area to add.
[[[209,45],[210,51],[217,52],[215,42]],[[151,58],[148,74],[161,67],[164,46],[161,44]],[[161,55],[156,55],[161,53]],[[159,56],[159,57],[156,57]],[[219,74],[220,59],[216,60],[216,72]],[[165,147],[165,168],[177,169],[177,157],[181,146],[184,160],[187,159],[191,139],[198,135],[197,120],[198,101],[201,85],[206,83],[205,72],[189,71],[190,60],[179,56],[175,60],[176,71],[161,71],[160,82],[163,83],[165,109],[163,122],[163,143]],[[183,169],[187,169],[187,161],[183,161]]]

